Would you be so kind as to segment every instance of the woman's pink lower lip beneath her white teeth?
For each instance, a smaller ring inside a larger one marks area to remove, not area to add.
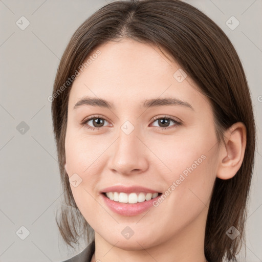
[[[144,201],[137,202],[136,204],[127,204],[127,203],[119,203],[113,200],[108,199],[104,194],[101,194],[105,204],[115,213],[125,216],[133,216],[138,215],[145,212],[147,209],[153,206],[153,202],[157,201],[162,194],[158,195],[158,197]]]

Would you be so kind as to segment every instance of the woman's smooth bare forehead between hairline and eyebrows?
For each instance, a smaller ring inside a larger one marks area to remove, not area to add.
[[[97,51],[100,54],[93,56]],[[182,82],[175,78],[181,70],[179,64],[165,55],[154,45],[132,39],[107,42],[86,58],[93,59],[73,82],[69,106],[73,107],[85,95],[123,106],[162,96],[175,96],[190,104],[193,100],[205,100],[189,77]]]

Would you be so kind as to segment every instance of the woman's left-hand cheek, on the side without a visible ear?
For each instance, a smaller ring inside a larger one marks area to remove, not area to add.
[[[72,194],[79,210],[84,213],[86,219],[92,221],[93,216],[89,217],[89,213],[85,214],[85,211],[97,205],[93,198],[96,197],[94,188],[100,179],[101,155],[106,148],[105,144],[99,143],[94,137],[73,134],[77,134],[76,130],[69,131],[65,137],[66,170],[69,181],[71,177],[80,181],[76,187],[70,183]]]

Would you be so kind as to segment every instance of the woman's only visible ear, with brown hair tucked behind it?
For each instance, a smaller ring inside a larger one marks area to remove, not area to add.
[[[242,165],[246,142],[247,129],[244,123],[237,122],[224,133],[225,144],[222,142],[219,151],[219,163],[216,177],[230,179]]]

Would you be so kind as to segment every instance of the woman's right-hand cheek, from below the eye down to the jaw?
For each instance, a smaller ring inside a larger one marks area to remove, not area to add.
[[[193,216],[208,206],[216,177],[216,142],[214,132],[207,135],[199,129],[152,144],[152,151],[163,161],[158,162],[162,172],[160,167],[158,170],[166,186],[164,202],[170,206],[176,204],[181,212],[176,214],[177,208],[170,209],[172,214],[188,217],[190,210]]]

